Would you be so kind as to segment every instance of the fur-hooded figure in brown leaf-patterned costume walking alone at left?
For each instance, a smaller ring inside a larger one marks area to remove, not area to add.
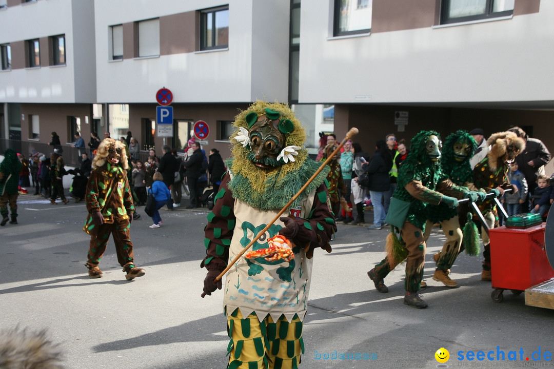
[[[134,279],[145,274],[144,269],[134,264],[130,227],[135,206],[127,180],[128,168],[124,145],[112,138],[102,140],[96,150],[85,192],[89,215],[83,231],[90,235],[85,266],[91,278],[102,277],[98,265],[110,234],[114,237],[117,261],[126,273],[125,278]]]

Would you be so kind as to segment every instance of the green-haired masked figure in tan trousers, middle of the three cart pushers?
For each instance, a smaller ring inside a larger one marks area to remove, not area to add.
[[[477,142],[467,131],[460,129],[450,133],[444,141],[440,164],[447,178],[458,186],[467,186],[473,183],[473,170],[469,160],[477,149]],[[475,193],[470,200],[485,199],[485,193]],[[461,206],[460,206],[461,207]],[[464,216],[464,215],[462,215]],[[428,240],[433,224],[440,223],[446,237],[443,248],[433,255],[437,264],[433,279],[442,282],[447,287],[458,287],[458,283],[449,277],[450,268],[462,249],[463,232],[460,228],[458,209],[452,209],[444,204],[429,205],[427,207],[427,224],[425,224],[425,241]],[[422,287],[423,287],[422,282]]]

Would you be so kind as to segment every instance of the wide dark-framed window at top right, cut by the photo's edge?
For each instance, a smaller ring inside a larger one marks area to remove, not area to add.
[[[506,17],[514,13],[514,0],[442,0],[442,24]]]

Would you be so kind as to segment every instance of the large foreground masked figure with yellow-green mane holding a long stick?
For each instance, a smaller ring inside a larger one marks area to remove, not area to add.
[[[303,148],[304,128],[288,106],[255,102],[234,122],[233,158],[208,215],[204,294],[224,290],[230,342],[229,368],[295,368],[304,351],[306,315],[314,248],[326,248],[336,231],[325,178],[316,176],[281,217],[254,243],[268,247],[281,234],[293,242],[294,258],[239,260],[225,283],[215,281],[227,264],[263,230],[319,168]]]

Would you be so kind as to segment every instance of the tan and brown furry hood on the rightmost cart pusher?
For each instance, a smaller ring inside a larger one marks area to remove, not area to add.
[[[487,157],[489,167],[493,171],[502,167],[504,163],[514,160],[525,149],[525,140],[509,131],[491,134],[486,144],[490,146]]]

